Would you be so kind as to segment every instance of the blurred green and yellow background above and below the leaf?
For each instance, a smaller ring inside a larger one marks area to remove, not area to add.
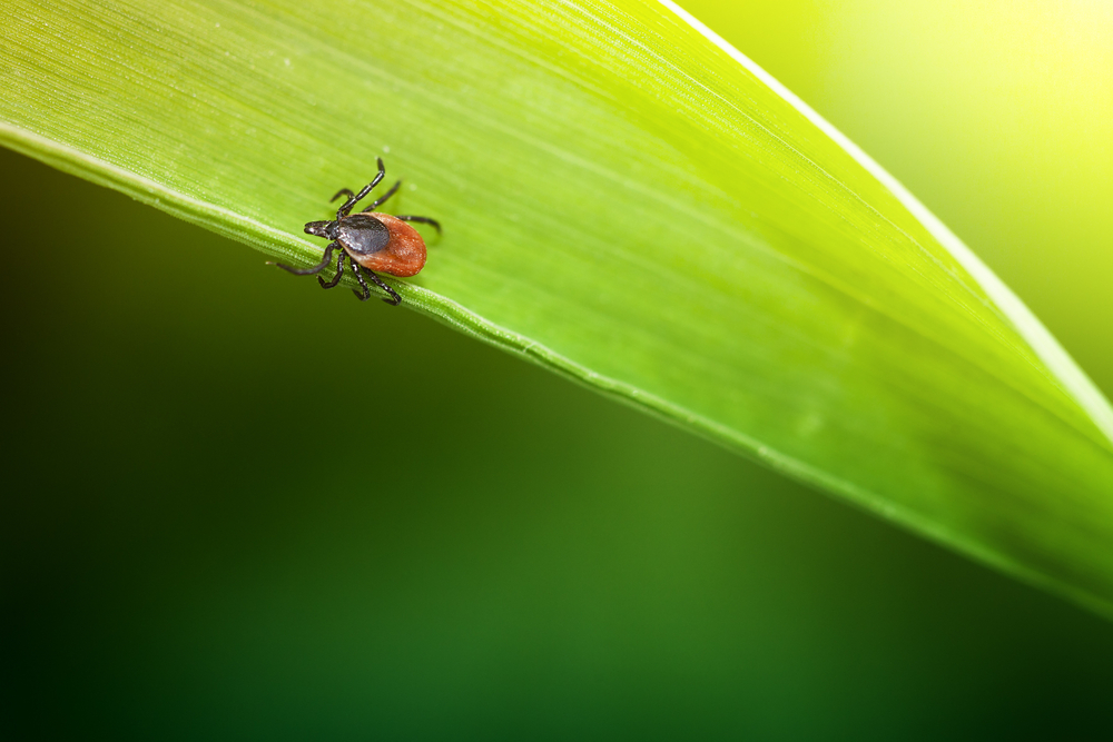
[[[686,7],[1113,392],[1109,6]],[[0,172],[7,739],[1113,738],[1109,622],[429,319]]]

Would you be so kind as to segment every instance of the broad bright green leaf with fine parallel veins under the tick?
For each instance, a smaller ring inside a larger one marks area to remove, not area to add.
[[[899,184],[670,2],[0,19],[7,146],[306,265],[303,222],[382,155],[393,209],[445,225],[390,280],[404,306],[1113,615],[1109,404]]]

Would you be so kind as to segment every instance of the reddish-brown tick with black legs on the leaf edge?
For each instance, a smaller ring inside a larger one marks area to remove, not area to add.
[[[276,265],[283,270],[288,270],[297,276],[319,274],[332,263],[333,250],[339,248],[341,254],[336,258],[336,275],[333,276],[333,279],[326,281],[321,276],[317,276],[317,283],[321,284],[322,288],[335,288],[341,283],[341,278],[344,276],[344,258],[346,257],[352,265],[352,273],[355,274],[355,279],[359,281],[359,286],[363,288],[362,291],[352,290],[361,301],[366,301],[371,298],[371,287],[364,280],[364,273],[366,271],[367,276],[381,289],[391,295],[390,299],[383,299],[383,301],[395,307],[402,304],[402,297],[387,286],[382,278],[376,276],[374,271],[377,270],[378,273],[401,278],[416,276],[425,266],[425,240],[422,239],[416,229],[406,222],[418,221],[432,225],[437,234],[441,234],[441,225],[435,219],[430,219],[429,217],[403,216],[401,214],[391,216],[390,214],[375,211],[375,208],[385,204],[391,196],[397,192],[398,187],[402,185],[401,180],[394,184],[388,191],[375,199],[363,211],[352,214],[353,207],[362,201],[385,177],[386,168],[383,166],[383,158],[380,157],[378,174],[363,190],[358,194],[353,194],[347,188],[341,188],[332,197],[329,202],[335,201],[341,196],[347,196],[344,206],[336,210],[336,218],[334,220],[309,221],[305,225],[306,235],[324,237],[328,240],[328,245],[325,247],[325,256],[321,263],[312,268],[294,268],[280,263],[272,265]]]

